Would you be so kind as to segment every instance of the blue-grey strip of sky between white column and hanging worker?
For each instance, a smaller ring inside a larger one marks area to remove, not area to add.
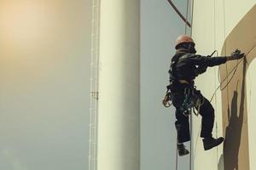
[[[186,0],[176,0],[186,14]],[[174,108],[161,101],[166,94],[174,42],[184,23],[167,1],[141,1],[141,170],[175,169]],[[189,144],[187,144],[189,146]],[[189,169],[189,156],[179,157],[178,169]]]

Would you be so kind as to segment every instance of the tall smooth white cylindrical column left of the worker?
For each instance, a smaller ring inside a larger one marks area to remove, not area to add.
[[[101,2],[98,170],[139,169],[139,4]]]

